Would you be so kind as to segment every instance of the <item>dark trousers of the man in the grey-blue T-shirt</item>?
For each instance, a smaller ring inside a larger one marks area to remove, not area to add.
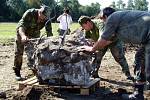
[[[150,42],[140,46],[136,52],[135,74],[137,82],[150,82]]]

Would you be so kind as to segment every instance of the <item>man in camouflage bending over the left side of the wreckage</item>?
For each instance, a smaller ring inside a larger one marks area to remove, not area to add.
[[[50,20],[51,9],[48,6],[41,6],[40,9],[28,9],[22,16],[16,28],[17,38],[15,41],[14,72],[16,80],[21,80],[20,70],[22,66],[22,56],[24,43],[31,38],[40,37],[40,30],[45,26],[47,36],[52,36]],[[29,66],[30,67],[30,66]]]

